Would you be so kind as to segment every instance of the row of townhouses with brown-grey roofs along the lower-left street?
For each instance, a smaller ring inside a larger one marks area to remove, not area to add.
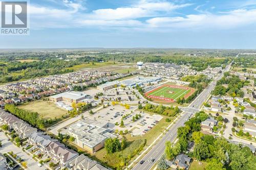
[[[31,127],[23,120],[4,110],[0,110],[0,125],[4,124],[8,125],[10,129],[15,130],[19,137],[27,138],[29,144],[38,148],[43,155],[51,158],[52,162],[58,162],[61,167],[67,167],[70,170],[108,169],[84,155],[79,156],[77,152],[66,148],[58,140],[52,139],[49,135],[45,135],[42,132],[37,132],[36,128]]]

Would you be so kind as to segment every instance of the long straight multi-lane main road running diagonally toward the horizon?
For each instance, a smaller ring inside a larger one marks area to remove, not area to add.
[[[231,63],[222,70],[222,73],[212,81],[209,86],[204,89],[197,98],[188,106],[188,107],[181,107],[182,115],[177,120],[177,122],[166,132],[166,134],[160,139],[160,141],[140,160],[144,160],[145,162],[140,164],[140,162],[136,162],[135,166],[132,168],[134,170],[150,170],[152,166],[155,164],[151,160],[159,160],[160,157],[164,153],[165,149],[165,142],[166,141],[174,141],[177,136],[177,130],[179,127],[183,126],[187,119],[194,115],[196,112],[200,110],[202,104],[207,100],[210,95],[210,92],[215,88],[215,85],[218,80],[223,77],[224,72],[230,69]]]

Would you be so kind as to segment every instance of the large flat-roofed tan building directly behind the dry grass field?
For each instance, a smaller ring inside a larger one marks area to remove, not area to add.
[[[68,104],[71,104],[73,102],[79,103],[79,102],[82,102],[82,100],[84,99],[86,99],[86,94],[78,91],[67,91],[67,92],[50,96],[50,101],[52,102],[62,101]]]

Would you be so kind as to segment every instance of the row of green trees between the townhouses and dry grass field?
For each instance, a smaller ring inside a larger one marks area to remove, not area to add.
[[[5,105],[5,110],[25,120],[34,127],[39,129],[43,129],[45,127],[45,121],[39,116],[37,112],[19,109],[14,105]]]

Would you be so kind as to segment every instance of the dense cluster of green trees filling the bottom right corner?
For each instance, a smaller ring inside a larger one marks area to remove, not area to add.
[[[206,161],[206,170],[245,170],[255,169],[256,157],[248,147],[229,143],[226,139],[212,135],[205,135],[200,132],[200,123],[208,115],[204,112],[196,113],[190,118],[184,127],[178,128],[178,142],[172,145],[166,142],[165,153],[168,159],[172,159],[181,152],[187,150],[188,141],[195,142],[195,149],[189,152],[188,156],[199,161]]]

